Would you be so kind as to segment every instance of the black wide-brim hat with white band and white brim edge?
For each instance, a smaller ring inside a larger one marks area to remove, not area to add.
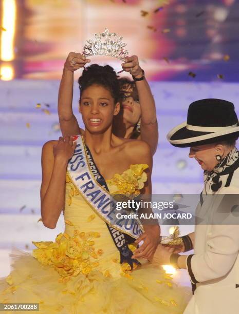
[[[191,147],[237,139],[239,123],[234,105],[222,99],[203,99],[188,109],[187,122],[173,128],[167,135],[176,147]]]

